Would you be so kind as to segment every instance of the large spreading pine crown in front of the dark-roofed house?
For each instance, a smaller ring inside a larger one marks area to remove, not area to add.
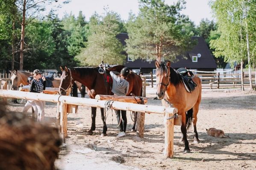
[[[182,22],[185,16],[179,12],[184,4],[178,1],[169,6],[163,0],[141,0],[138,17],[130,15],[127,23],[129,58],[161,61],[164,57],[174,61],[177,55],[185,52],[192,45],[194,33],[185,29],[188,27]]]

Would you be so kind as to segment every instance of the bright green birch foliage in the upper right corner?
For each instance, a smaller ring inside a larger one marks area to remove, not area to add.
[[[255,6],[256,2],[249,0],[215,0],[211,2],[217,17],[220,37],[210,40],[215,56],[224,56],[227,62],[238,62],[247,58],[246,33],[249,35],[250,53],[255,60]],[[247,10],[245,10],[247,9]],[[247,13],[245,13],[247,11]],[[246,26],[248,24],[248,26]]]

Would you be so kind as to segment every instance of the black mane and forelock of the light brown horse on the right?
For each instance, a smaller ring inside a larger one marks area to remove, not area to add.
[[[161,64],[158,68],[160,75],[163,75],[165,72],[168,72],[168,67],[166,64]],[[182,82],[181,75],[178,74],[172,67],[170,67],[170,83],[174,86],[177,86]]]

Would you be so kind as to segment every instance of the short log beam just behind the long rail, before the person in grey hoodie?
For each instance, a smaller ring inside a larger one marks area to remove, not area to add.
[[[95,99],[98,100],[112,100],[112,101],[120,101],[120,102],[128,102],[128,103],[135,103],[137,101],[140,102],[141,98],[133,97],[133,96],[118,96],[118,95],[96,95]],[[147,103],[147,98],[143,98],[144,104]]]

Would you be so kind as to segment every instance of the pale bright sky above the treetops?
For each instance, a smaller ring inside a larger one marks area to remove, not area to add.
[[[199,25],[200,20],[208,18],[212,20],[212,10],[209,7],[209,0],[185,0],[186,9],[182,11],[182,14],[188,15],[190,20],[194,21],[196,25]],[[171,5],[177,0],[165,0],[165,3]],[[62,8],[58,9],[56,13],[59,18],[62,18],[65,13],[74,14],[76,17],[79,11],[85,16],[85,20],[89,20],[94,12],[103,14],[103,8],[108,6],[110,11],[120,14],[121,19],[126,21],[129,17],[129,12],[138,14],[138,0],[71,0],[68,4],[63,4]]]

